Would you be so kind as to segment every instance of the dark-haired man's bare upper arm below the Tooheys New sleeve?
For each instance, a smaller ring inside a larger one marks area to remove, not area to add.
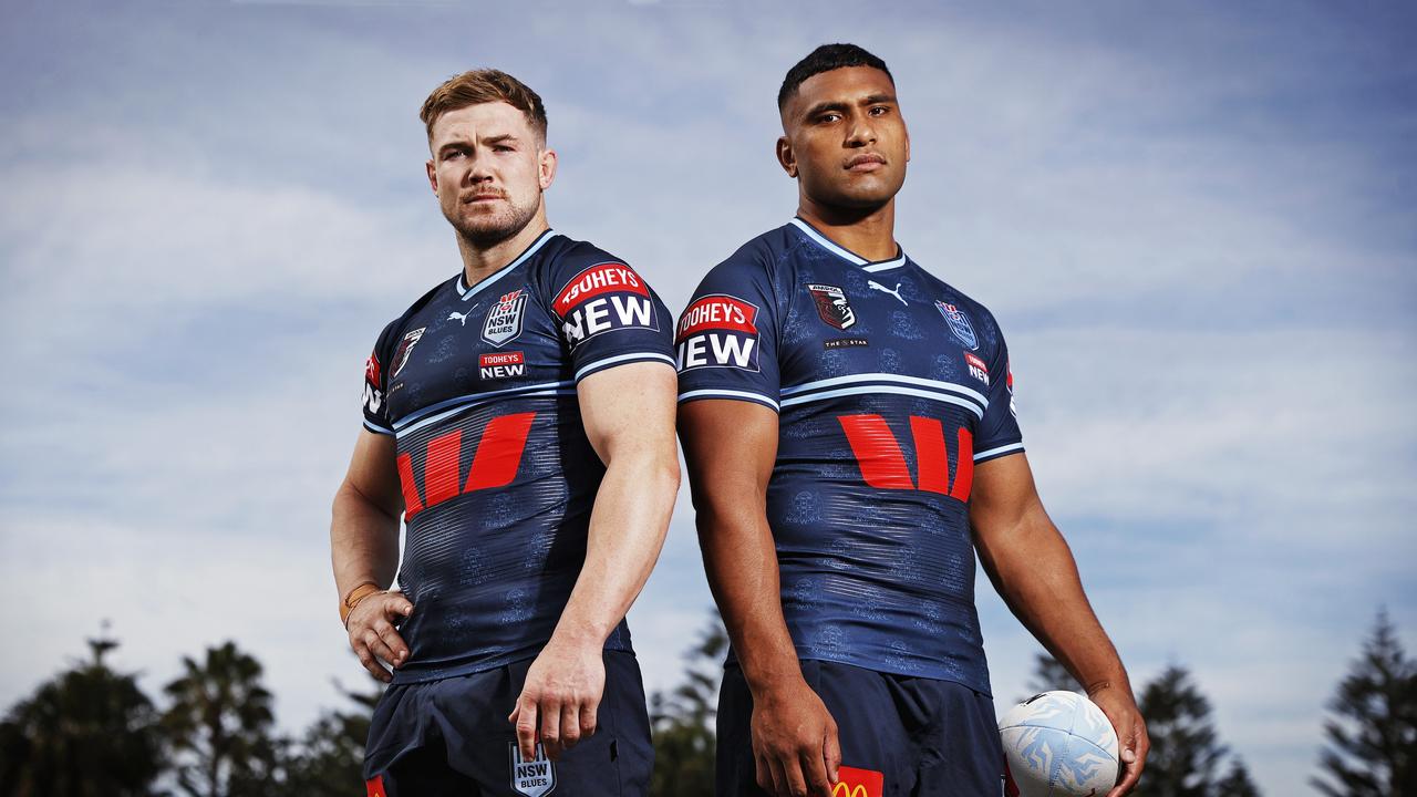
[[[778,414],[752,401],[701,398],[679,407],[694,506],[761,506],[778,455]]]

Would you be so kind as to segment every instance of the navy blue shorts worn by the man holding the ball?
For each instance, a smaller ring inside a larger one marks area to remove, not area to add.
[[[874,783],[853,793],[871,797],[1003,794],[1003,746],[989,695],[952,681],[893,675],[832,661],[803,661],[802,675],[836,720],[842,766],[881,774],[879,780],[863,774],[862,783]],[[751,723],[752,693],[743,669],[730,664],[718,693],[720,797],[767,794],[757,784]]]

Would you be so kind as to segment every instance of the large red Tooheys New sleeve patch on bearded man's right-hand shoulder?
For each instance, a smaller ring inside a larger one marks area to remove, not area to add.
[[[615,329],[659,332],[649,288],[623,262],[598,262],[577,274],[551,302],[572,349],[587,338]]]

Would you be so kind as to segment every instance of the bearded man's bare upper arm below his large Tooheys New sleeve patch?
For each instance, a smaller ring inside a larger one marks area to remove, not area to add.
[[[639,362],[595,372],[577,384],[585,437],[602,462],[621,452],[667,454],[674,447],[674,369]]]

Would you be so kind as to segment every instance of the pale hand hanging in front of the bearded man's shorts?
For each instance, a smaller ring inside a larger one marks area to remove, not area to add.
[[[547,642],[527,669],[526,684],[507,722],[517,728],[521,759],[536,757],[540,739],[553,762],[595,733],[595,712],[605,692],[602,645]],[[540,726],[540,728],[538,728]]]

